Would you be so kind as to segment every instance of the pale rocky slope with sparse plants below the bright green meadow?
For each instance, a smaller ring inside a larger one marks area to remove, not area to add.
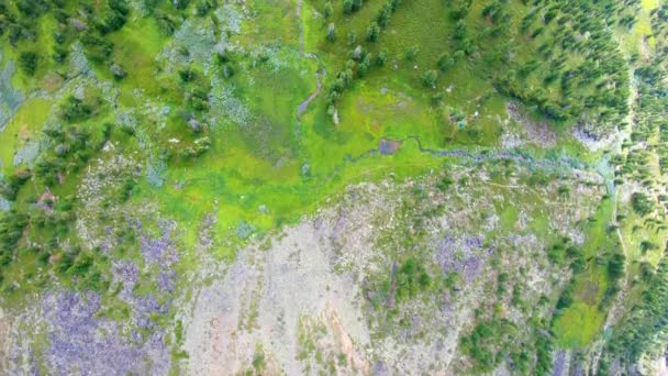
[[[455,181],[464,175],[476,181],[488,179],[485,170],[450,172]],[[503,257],[501,267],[511,278],[520,278],[527,303],[549,294],[556,276],[547,262],[534,262],[545,258],[545,244],[535,235],[486,239],[486,232],[498,228],[476,213],[492,213],[493,201],[519,196],[497,196],[483,184],[466,190],[456,186],[443,193],[435,190],[435,181],[439,180],[350,187],[335,206],[265,241],[268,248],[250,245],[240,251],[231,265],[207,265],[222,270],[202,275],[222,277],[200,288],[192,313],[185,319],[187,373],[244,373],[254,367],[257,349],[266,360],[265,374],[414,374],[427,367],[447,374],[465,369],[466,358],[457,347],[461,333],[471,328],[474,310],[489,300],[485,286],[497,275],[488,259],[497,250],[513,250],[512,257]],[[517,184],[505,183],[501,187]],[[584,185],[578,183],[572,190],[580,186]],[[553,197],[557,189],[557,184],[546,185],[539,195]],[[602,188],[589,189],[582,195],[593,197]],[[386,306],[387,297],[378,295],[375,284],[379,276],[391,274],[396,257],[387,244],[400,239],[386,239],[382,246],[377,240],[387,231],[402,229],[401,215],[407,214],[397,197],[417,191],[425,208],[448,203],[441,217],[425,226],[425,247],[434,252],[433,270],[441,267],[444,275],[457,273],[461,283],[453,291],[430,299],[388,305],[394,306],[397,317],[405,318],[402,325],[394,325],[370,302],[378,298]],[[526,202],[514,204],[519,211],[530,212]],[[546,203],[545,210],[555,218],[550,228],[572,230],[577,210],[588,214],[591,204],[582,201],[576,208],[555,202]],[[555,212],[564,214],[557,219]],[[526,321],[525,312],[513,307],[506,308],[506,314],[517,324]]]

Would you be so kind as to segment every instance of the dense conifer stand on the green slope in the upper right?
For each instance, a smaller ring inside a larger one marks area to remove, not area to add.
[[[553,119],[580,121],[594,134],[616,128],[628,112],[630,82],[608,25],[627,14],[626,8],[577,0],[533,5],[519,32],[535,53],[508,62],[499,56],[506,68],[496,77],[498,89]],[[490,7],[485,14],[503,9],[501,2]],[[500,22],[506,19],[501,15]],[[503,35],[504,30],[489,34]]]

